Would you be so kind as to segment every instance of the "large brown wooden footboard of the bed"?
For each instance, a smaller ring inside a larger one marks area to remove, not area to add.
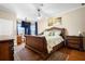
[[[26,35],[26,47],[41,54],[47,54],[46,40],[43,36]]]

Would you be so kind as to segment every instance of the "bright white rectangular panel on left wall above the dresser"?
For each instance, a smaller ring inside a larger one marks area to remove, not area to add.
[[[13,21],[0,18],[0,35],[13,36]]]

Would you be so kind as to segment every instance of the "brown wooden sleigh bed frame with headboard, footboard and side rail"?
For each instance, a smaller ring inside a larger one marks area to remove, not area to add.
[[[53,30],[53,29],[61,30],[60,36],[62,36],[62,38],[65,39],[65,37],[66,37],[65,28],[52,27],[52,28],[45,29],[45,30]],[[44,36],[42,36],[42,34],[40,34],[38,36],[26,35],[25,36],[26,37],[26,46],[25,47],[41,54],[42,57],[46,57],[49,54],[52,54],[53,52],[55,52],[56,50],[58,50],[59,48],[65,46],[65,41],[62,41],[61,43],[55,46],[53,48],[53,51],[48,54],[47,48],[46,48],[47,47],[46,39]]]

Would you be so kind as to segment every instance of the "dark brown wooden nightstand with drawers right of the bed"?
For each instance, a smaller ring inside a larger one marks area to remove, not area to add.
[[[67,36],[66,37],[66,47],[77,49],[80,51],[84,51],[83,37],[82,36]]]

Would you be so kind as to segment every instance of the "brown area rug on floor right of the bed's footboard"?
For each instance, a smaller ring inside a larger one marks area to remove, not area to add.
[[[68,54],[56,51],[53,54],[51,54],[46,61],[66,61],[67,57],[68,57]]]

